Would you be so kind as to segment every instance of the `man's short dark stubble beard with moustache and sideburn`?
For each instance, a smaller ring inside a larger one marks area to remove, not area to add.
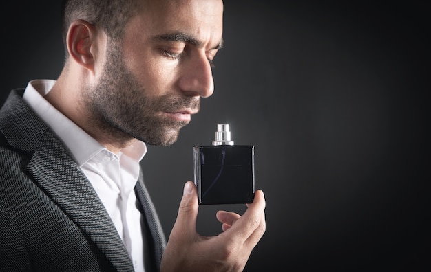
[[[99,83],[87,88],[82,100],[90,110],[91,126],[114,141],[135,138],[154,146],[174,144],[180,128],[188,122],[178,122],[162,113],[199,109],[199,98],[147,95],[148,90],[127,69],[119,47],[111,45]]]

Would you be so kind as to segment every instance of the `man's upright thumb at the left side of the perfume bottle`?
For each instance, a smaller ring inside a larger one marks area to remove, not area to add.
[[[196,185],[187,181],[184,185],[178,216],[176,218],[173,231],[179,231],[181,234],[187,234],[196,231],[196,218],[198,217],[198,194]]]

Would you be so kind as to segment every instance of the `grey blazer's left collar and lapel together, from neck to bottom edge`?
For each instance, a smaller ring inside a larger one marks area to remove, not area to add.
[[[27,170],[35,183],[90,237],[117,271],[133,271],[132,261],[114,223],[61,141],[18,93],[12,92],[0,116],[2,124],[25,120],[0,129],[12,146],[33,153]]]

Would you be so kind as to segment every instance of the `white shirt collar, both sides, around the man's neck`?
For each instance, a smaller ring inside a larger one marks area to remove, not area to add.
[[[82,166],[106,148],[43,98],[50,92],[55,82],[55,80],[32,80],[28,82],[23,100],[48,124],[70,150],[76,163]],[[147,146],[143,141],[136,140],[132,145],[123,148],[121,152],[139,162],[147,152]]]

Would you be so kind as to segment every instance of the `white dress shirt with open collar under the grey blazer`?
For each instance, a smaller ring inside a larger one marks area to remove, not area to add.
[[[136,140],[118,154],[107,150],[43,98],[54,83],[55,80],[30,81],[23,100],[70,150],[105,205],[132,258],[135,271],[145,271],[140,225],[142,215],[136,208],[134,187],[140,172],[139,161],[143,159],[147,147],[142,141]]]

